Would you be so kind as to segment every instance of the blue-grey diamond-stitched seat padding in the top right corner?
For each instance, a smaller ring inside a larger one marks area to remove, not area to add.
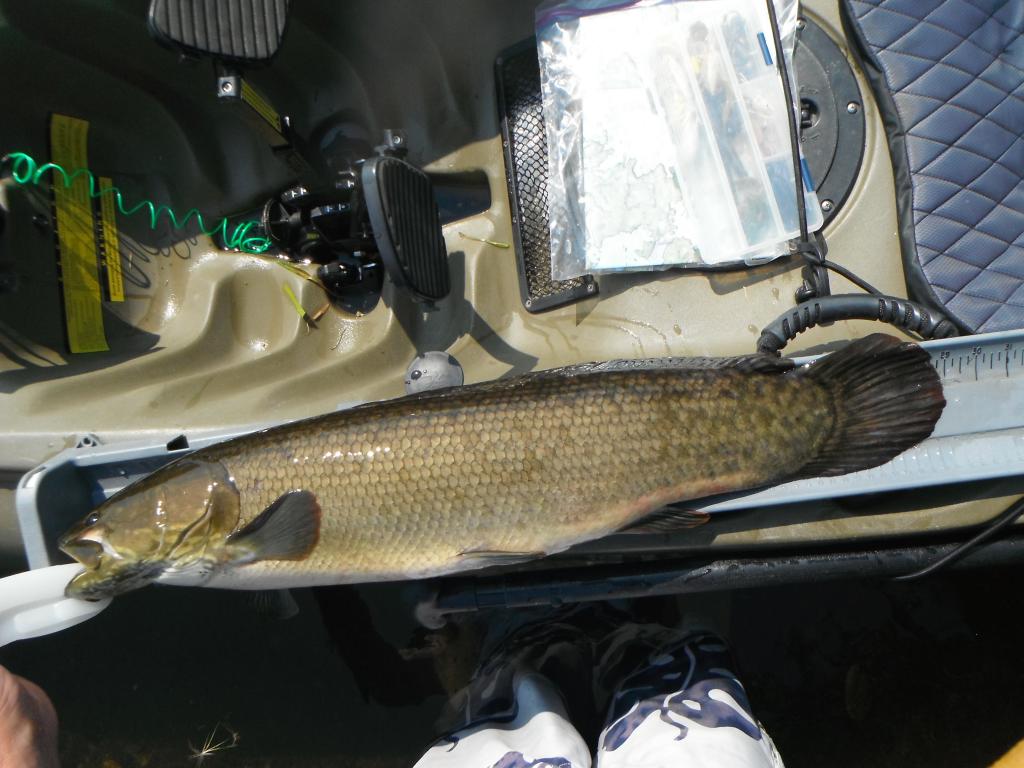
[[[971,330],[1024,327],[1024,2],[847,2],[906,134],[928,283]]]

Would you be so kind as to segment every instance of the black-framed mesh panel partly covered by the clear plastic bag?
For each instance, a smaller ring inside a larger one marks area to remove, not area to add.
[[[540,312],[594,296],[597,283],[590,274],[567,281],[551,279],[548,138],[536,41],[530,38],[502,53],[495,74],[523,306]]]

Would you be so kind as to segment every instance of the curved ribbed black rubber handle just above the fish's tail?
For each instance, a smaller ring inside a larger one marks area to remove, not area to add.
[[[758,351],[778,354],[786,344],[809,328],[844,319],[874,319],[925,339],[948,339],[956,336],[956,327],[934,309],[909,299],[871,294],[823,296],[797,304],[761,332]]]

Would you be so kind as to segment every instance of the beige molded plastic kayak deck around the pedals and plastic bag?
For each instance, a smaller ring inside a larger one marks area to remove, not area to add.
[[[135,10],[104,8],[104,34],[72,45],[54,39],[44,9],[32,5],[9,11],[0,27],[0,60],[8,71],[25,71],[9,86],[24,109],[9,131],[15,145],[5,151],[46,157],[46,116],[59,111],[90,121],[90,166],[129,198],[219,215],[251,207],[287,182],[287,170],[258,137],[217,103],[209,67],[179,65],[150,40]],[[105,443],[198,435],[397,396],[409,364],[428,350],[454,354],[467,382],[596,359],[754,350],[761,329],[793,305],[797,261],[717,274],[604,275],[594,298],[539,314],[524,309],[514,250],[493,245],[511,244],[512,231],[492,65],[501,49],[531,33],[532,6],[353,0],[341,14],[310,3],[296,7],[273,65],[252,75],[313,135],[339,121],[372,137],[399,127],[414,161],[486,173],[490,209],[444,228],[453,291],[433,310],[386,285],[366,314],[330,309],[309,329],[283,287],[314,312],[326,303],[316,286],[266,259],[221,251],[208,238],[155,247],[143,225],[122,221],[126,300],[105,304],[114,318],[106,324],[111,351],[70,354],[52,233],[33,223],[48,210],[48,196],[40,187],[5,186],[0,259],[13,262],[20,287],[0,297],[0,554],[20,548],[17,478],[85,434]],[[804,6],[846,51],[836,3]],[[96,15],[90,11],[90,24]],[[27,60],[39,67],[18,63]],[[904,296],[888,147],[859,72],[858,84],[864,163],[825,237],[830,258]],[[835,275],[833,289],[857,291]],[[804,334],[786,351],[820,351],[879,330],[839,323]],[[1011,501],[994,486],[984,493],[990,498],[924,492],[903,499],[895,513],[819,503],[723,515],[679,542],[687,549],[782,545],[955,528]]]

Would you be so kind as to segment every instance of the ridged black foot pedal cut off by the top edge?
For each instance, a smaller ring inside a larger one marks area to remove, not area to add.
[[[281,46],[289,0],[153,0],[150,30],[161,42],[196,55],[264,61]]]

